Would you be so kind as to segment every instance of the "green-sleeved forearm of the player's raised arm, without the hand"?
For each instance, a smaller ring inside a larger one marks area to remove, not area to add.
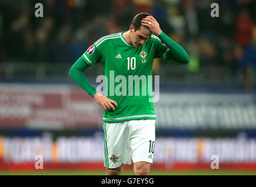
[[[166,44],[169,48],[170,52],[172,53],[173,57],[175,58],[178,63],[187,64],[189,63],[189,55],[187,52],[180,46],[178,43],[170,39],[165,33],[161,33],[159,39]]]

